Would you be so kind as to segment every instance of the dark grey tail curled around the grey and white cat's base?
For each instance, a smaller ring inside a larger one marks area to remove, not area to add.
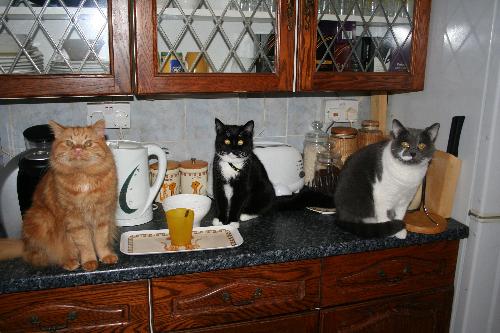
[[[383,238],[393,236],[405,228],[405,223],[401,220],[392,220],[382,223],[363,223],[335,219],[335,223],[340,228],[361,238]]]

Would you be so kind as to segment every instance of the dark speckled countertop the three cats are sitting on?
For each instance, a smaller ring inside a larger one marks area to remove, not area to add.
[[[211,225],[210,212],[201,226]],[[208,272],[220,269],[272,264],[304,259],[322,258],[364,251],[466,238],[469,229],[450,220],[448,229],[437,235],[408,233],[405,240],[394,237],[364,240],[340,230],[331,215],[320,215],[308,210],[275,212],[247,222],[239,231],[243,244],[236,248],[209,251],[181,252],[153,255],[125,255],[116,251],[116,265],[103,265],[94,272],[78,269],[73,272],[61,268],[34,268],[21,259],[0,262],[0,293],[42,290],[132,281],[154,277]],[[164,215],[154,213],[154,220],[121,231],[165,229]]]

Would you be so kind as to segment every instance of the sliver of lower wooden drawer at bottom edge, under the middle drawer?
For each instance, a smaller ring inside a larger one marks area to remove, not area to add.
[[[259,319],[209,328],[191,329],[190,333],[316,333],[319,311]]]

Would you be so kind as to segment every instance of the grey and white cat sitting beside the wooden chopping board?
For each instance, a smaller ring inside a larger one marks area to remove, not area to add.
[[[335,189],[337,225],[364,238],[406,238],[403,217],[427,172],[438,131],[438,123],[422,130],[395,119],[390,140],[351,155]]]

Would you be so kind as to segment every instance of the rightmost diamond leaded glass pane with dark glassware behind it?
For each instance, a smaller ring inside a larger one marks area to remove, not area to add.
[[[316,71],[409,72],[413,0],[319,0]]]

